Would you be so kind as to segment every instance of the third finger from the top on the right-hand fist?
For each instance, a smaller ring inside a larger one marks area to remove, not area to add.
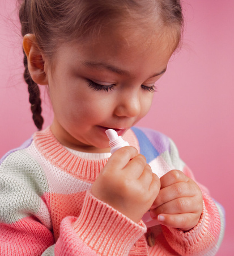
[[[194,202],[192,197],[181,197],[160,207],[151,209],[152,217],[158,216],[161,213],[165,214],[179,214],[179,213],[194,213],[199,210],[199,204]]]

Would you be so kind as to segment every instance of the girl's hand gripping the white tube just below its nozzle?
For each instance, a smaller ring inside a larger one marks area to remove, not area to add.
[[[92,185],[97,199],[139,222],[159,193],[159,177],[134,147],[122,147],[112,156]]]

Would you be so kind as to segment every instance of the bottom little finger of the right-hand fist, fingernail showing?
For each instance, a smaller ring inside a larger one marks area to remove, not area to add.
[[[195,213],[160,214],[157,217],[157,220],[160,222],[161,225],[187,231],[197,225],[199,217],[197,217],[197,214]]]

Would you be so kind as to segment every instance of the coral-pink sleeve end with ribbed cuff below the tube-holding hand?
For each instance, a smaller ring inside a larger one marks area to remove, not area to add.
[[[66,217],[62,221],[55,253],[129,255],[131,247],[144,233],[146,226],[142,221],[136,224],[88,191],[80,216]],[[89,251],[83,251],[84,244],[88,246]]]

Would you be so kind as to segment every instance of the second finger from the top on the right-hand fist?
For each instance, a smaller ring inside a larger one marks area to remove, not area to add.
[[[151,209],[157,208],[162,204],[175,200],[179,197],[194,196],[193,189],[188,182],[178,182],[168,187],[161,188],[158,197],[155,199]]]

